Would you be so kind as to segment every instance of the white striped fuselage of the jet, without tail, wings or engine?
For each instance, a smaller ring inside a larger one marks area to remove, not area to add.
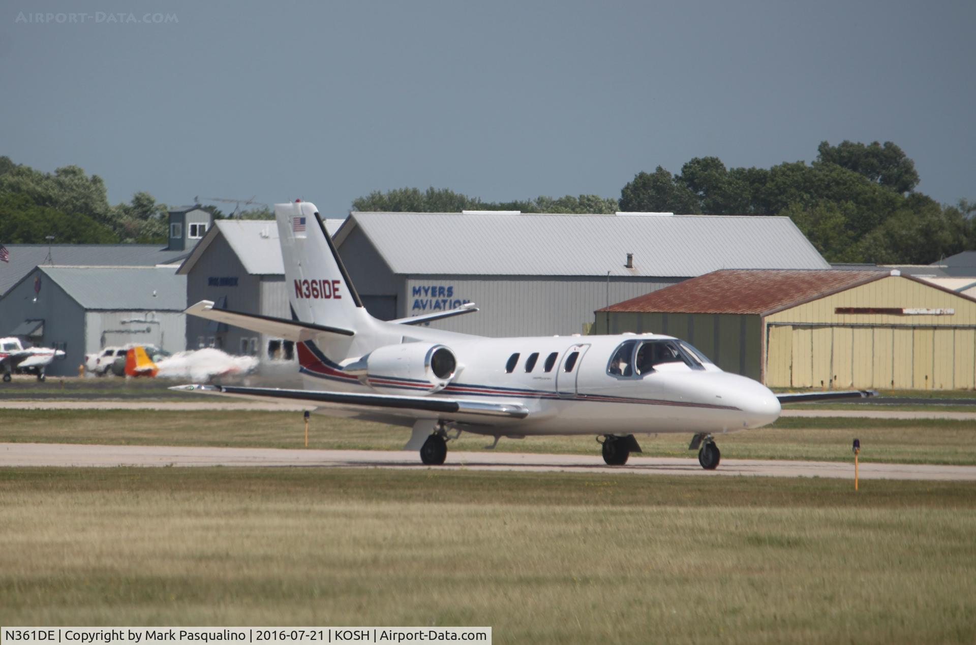
[[[359,339],[370,339],[373,346],[406,341],[449,347],[457,356],[454,377],[435,389],[423,379],[373,371],[349,374],[343,367],[347,361],[308,362],[306,354],[302,372],[307,389],[463,397],[522,406],[529,413],[523,420],[493,420],[484,427],[459,423],[468,431],[506,436],[726,432],[772,423],[780,414],[779,400],[768,388],[723,372],[707,359],[694,366],[662,364],[643,373],[631,369],[627,376],[611,373],[611,359],[622,343],[640,346],[645,341],[673,341],[672,337],[625,334],[491,339],[390,325],[375,319],[363,323],[370,329],[361,329]],[[321,347],[318,358],[330,353],[328,345]],[[362,346],[359,351],[350,346],[334,348],[339,349],[334,355],[348,356],[368,353],[372,347]],[[570,361],[574,352],[576,357]],[[512,358],[514,354],[518,356]]]

